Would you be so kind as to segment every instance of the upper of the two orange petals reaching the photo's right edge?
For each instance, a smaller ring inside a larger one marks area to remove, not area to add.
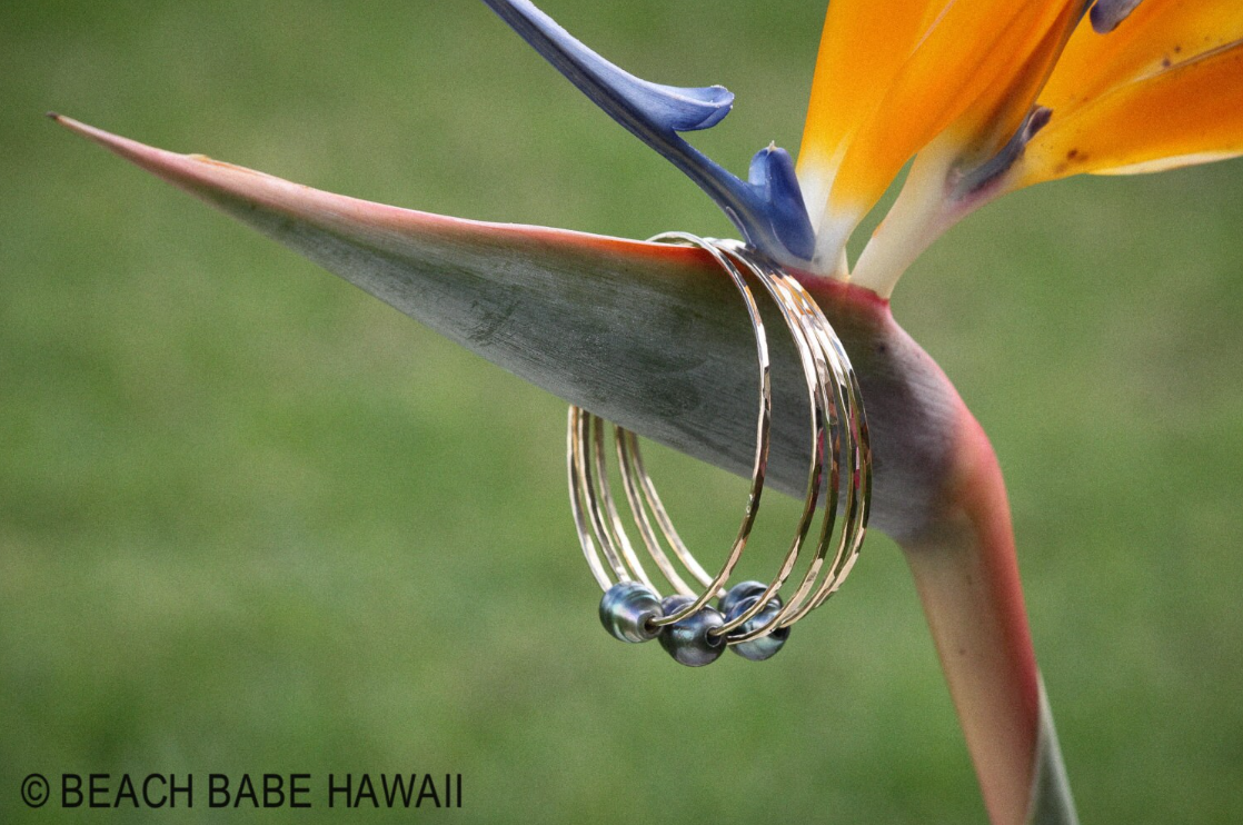
[[[1098,35],[1085,17],[1040,92],[1065,113],[1109,89],[1243,39],[1243,2],[1145,0],[1121,25]]]

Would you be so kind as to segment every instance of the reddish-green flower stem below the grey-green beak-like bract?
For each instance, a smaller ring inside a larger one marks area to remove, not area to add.
[[[904,550],[984,806],[993,825],[1074,823],[1028,631],[1006,485],[965,406],[953,466],[941,517]]]

